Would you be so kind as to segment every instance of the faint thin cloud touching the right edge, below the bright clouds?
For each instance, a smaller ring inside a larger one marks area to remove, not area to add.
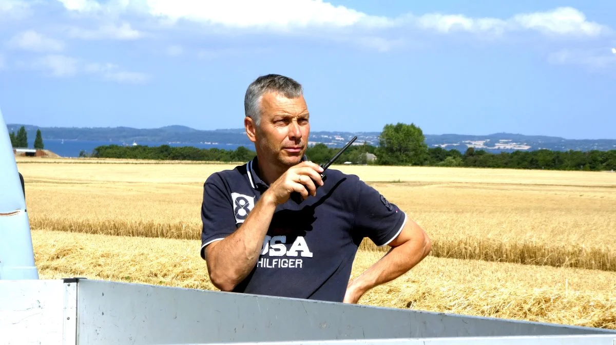
[[[548,55],[548,62],[556,65],[580,65],[590,70],[616,68],[616,55],[605,49],[562,49]]]

